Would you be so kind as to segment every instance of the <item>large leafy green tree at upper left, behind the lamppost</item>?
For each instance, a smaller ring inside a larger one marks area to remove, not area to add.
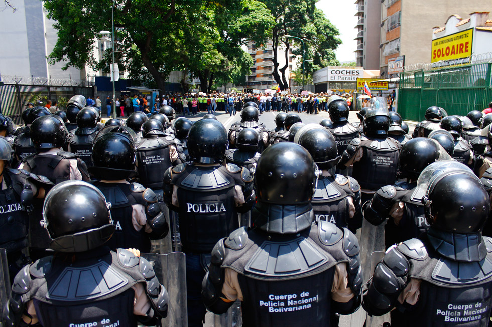
[[[48,56],[83,69],[107,71],[112,49],[93,55],[99,31],[111,30],[111,0],[46,0],[58,40]],[[248,19],[244,19],[246,16]],[[264,21],[264,23],[263,23]],[[248,33],[269,32],[269,12],[256,0],[118,0],[114,8],[115,61],[120,70],[164,92],[173,70],[189,71],[208,89],[225,60],[233,64]],[[253,36],[252,36],[253,37]],[[202,87],[203,90],[203,87]]]

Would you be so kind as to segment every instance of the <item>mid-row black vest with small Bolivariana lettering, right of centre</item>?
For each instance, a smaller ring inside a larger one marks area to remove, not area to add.
[[[396,180],[399,145],[391,138],[360,138],[357,148],[364,153],[360,161],[353,163],[352,177],[362,189],[378,190],[385,185],[393,185]]]

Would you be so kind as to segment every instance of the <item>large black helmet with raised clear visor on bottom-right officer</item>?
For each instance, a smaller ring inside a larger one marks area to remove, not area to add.
[[[490,212],[487,191],[464,168],[432,178],[422,202],[431,228],[450,233],[480,233]]]

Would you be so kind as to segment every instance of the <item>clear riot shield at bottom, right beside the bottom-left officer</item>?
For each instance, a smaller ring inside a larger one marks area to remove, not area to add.
[[[169,254],[141,253],[140,256],[151,263],[159,283],[166,287],[169,294],[167,317],[161,320],[161,326],[187,326],[185,254],[182,252]]]

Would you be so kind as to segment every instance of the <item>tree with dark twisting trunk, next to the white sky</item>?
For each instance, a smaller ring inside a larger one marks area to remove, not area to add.
[[[287,38],[286,35],[302,38],[306,49],[305,59],[313,58],[314,64],[318,66],[329,58],[330,50],[336,49],[341,44],[341,40],[337,37],[339,32],[336,27],[326,19],[321,10],[316,8],[315,0],[263,0],[263,2],[270,9],[275,20],[271,35],[273,77],[280,89],[284,90],[289,87],[285,71],[289,66],[291,44],[296,46],[293,54],[301,57],[303,54],[301,41]],[[282,67],[279,64],[278,50],[284,50],[285,65]]]

